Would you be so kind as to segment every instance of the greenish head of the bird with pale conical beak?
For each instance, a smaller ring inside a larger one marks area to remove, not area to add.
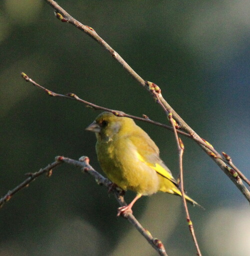
[[[132,129],[134,125],[135,123],[131,118],[119,117],[110,112],[102,112],[85,130],[94,132],[97,140],[110,141],[113,139],[113,136],[117,134],[121,136]]]

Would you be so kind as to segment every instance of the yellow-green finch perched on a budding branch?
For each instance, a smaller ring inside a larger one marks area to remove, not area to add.
[[[117,215],[131,212],[142,195],[162,191],[181,196],[170,170],[159,157],[158,147],[133,119],[103,112],[86,130],[96,135],[97,158],[108,179],[124,191],[136,192],[130,204],[118,208]],[[185,199],[198,205],[187,195]]]

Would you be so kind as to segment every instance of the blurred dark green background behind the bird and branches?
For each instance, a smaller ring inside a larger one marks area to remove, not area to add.
[[[65,1],[170,105],[249,178],[250,3],[239,1]],[[167,123],[151,96],[95,41],[59,22],[41,0],[0,1],[0,195],[57,155],[90,158],[95,137],[84,128],[100,111],[48,97],[42,86],[112,109]],[[137,122],[138,123],[138,122]],[[173,134],[138,123],[178,176]],[[183,138],[189,207],[203,255],[249,255],[248,203],[222,171]],[[133,194],[125,196],[127,202]],[[0,256],[156,255],[124,219],[104,187],[70,166],[37,178],[0,210]],[[140,199],[134,215],[168,255],[194,255],[180,198]]]

